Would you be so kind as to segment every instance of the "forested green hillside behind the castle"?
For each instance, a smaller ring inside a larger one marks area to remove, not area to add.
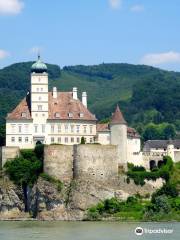
[[[0,70],[0,123],[23,98],[30,86],[32,62],[16,63]],[[49,88],[87,91],[88,105],[99,120],[111,116],[119,103],[125,118],[141,132],[147,124],[173,123],[180,130],[180,73],[132,64],[68,66],[48,64]],[[49,90],[50,90],[49,89]],[[156,134],[157,135],[157,134]]]

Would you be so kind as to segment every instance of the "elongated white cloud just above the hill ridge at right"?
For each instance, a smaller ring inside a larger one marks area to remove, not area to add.
[[[151,53],[141,59],[141,63],[147,65],[160,65],[163,63],[180,62],[180,52]]]

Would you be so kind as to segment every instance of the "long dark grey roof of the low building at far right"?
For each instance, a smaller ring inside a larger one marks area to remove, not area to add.
[[[163,148],[166,149],[168,144],[173,144],[175,148],[180,148],[180,140],[148,140],[145,142],[144,151],[148,151],[151,148]]]

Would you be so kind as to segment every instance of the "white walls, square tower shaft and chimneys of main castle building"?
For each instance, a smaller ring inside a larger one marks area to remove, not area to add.
[[[57,89],[53,88],[52,96],[56,99]],[[29,97],[29,95],[27,96]],[[31,73],[30,92],[30,117],[27,117],[27,103],[20,103],[17,112],[20,116],[7,117],[6,120],[6,146],[20,147],[24,149],[34,148],[37,142],[43,144],[79,144],[84,137],[86,143],[94,143],[96,136],[96,121],[84,120],[83,113],[81,119],[74,119],[73,113],[68,113],[67,118],[49,118],[49,93],[48,74],[44,72]],[[72,99],[78,100],[77,88],[73,88]],[[87,108],[87,94],[83,93],[83,106]],[[70,100],[71,101],[71,100]],[[21,112],[19,112],[21,111]],[[60,114],[60,113],[57,113]],[[10,114],[11,115],[11,114]],[[71,116],[72,115],[72,116]],[[80,116],[81,118],[81,116]]]

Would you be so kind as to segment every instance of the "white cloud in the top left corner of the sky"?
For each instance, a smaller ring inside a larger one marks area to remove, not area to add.
[[[21,0],[0,0],[0,15],[15,15],[21,12],[24,3]]]

